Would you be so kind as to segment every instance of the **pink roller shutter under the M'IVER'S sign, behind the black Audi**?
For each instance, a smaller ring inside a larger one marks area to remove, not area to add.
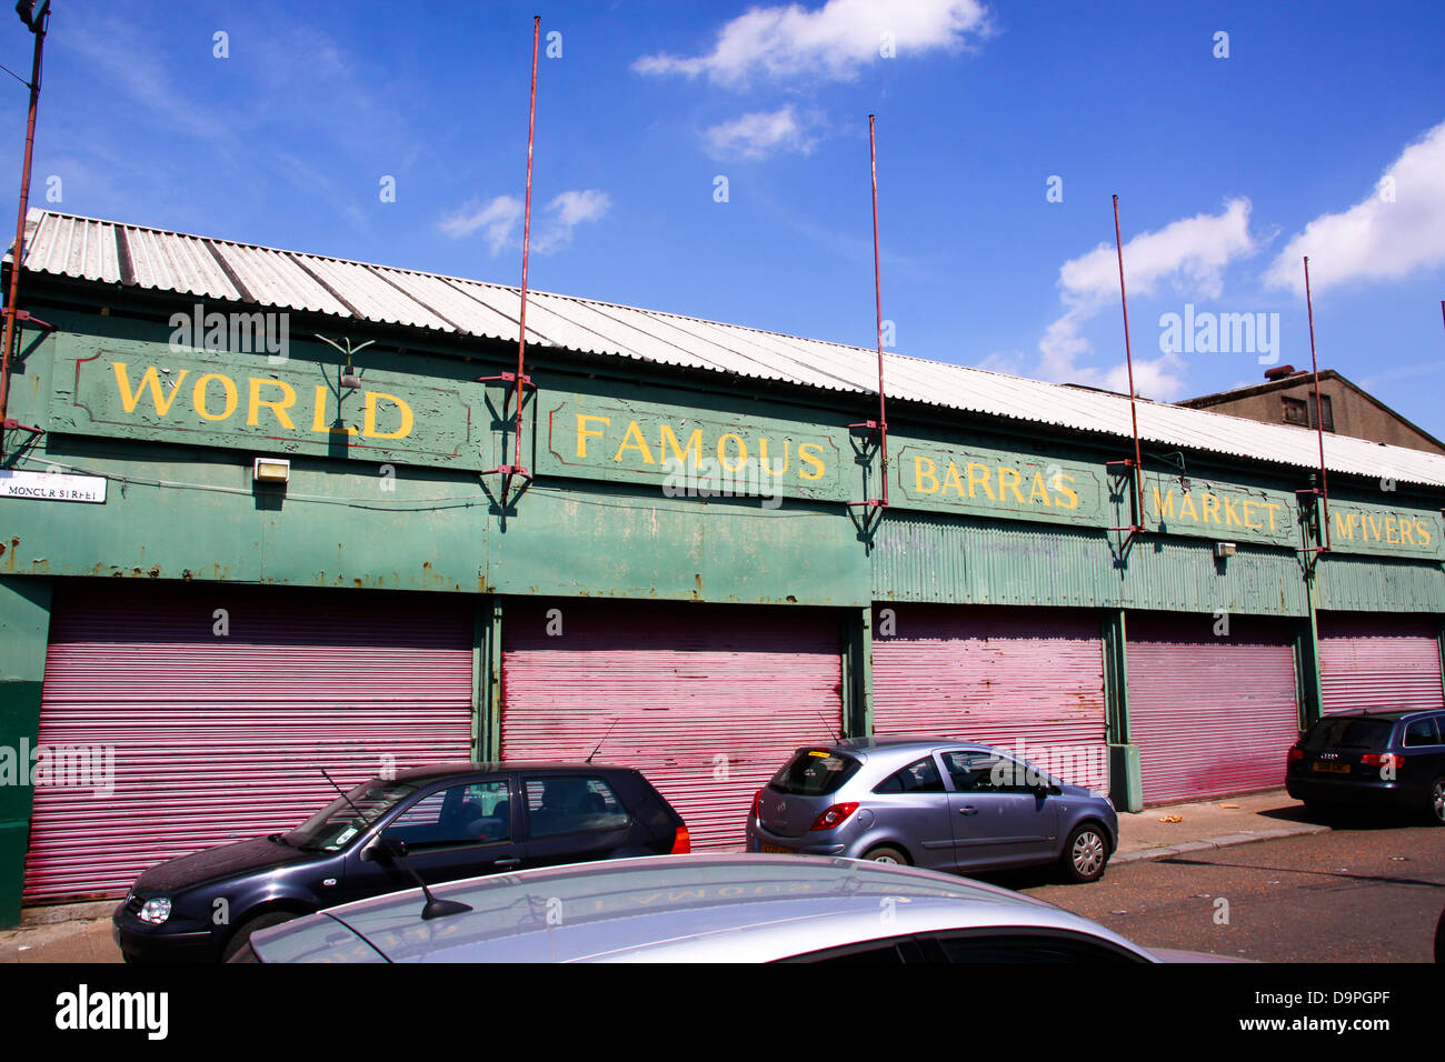
[[[1322,613],[1319,679],[1327,712],[1445,707],[1433,617]]]

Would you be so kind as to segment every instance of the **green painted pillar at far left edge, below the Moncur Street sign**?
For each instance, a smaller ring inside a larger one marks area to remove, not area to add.
[[[30,841],[30,757],[40,730],[40,682],[51,637],[51,584],[0,578],[0,928],[20,925]]]

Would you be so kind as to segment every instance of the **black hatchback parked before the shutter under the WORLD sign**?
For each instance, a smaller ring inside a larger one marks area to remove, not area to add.
[[[143,873],[116,909],[134,961],[217,961],[257,929],[419,881],[689,851],[688,828],[631,767],[448,763],[374,777],[289,834]]]

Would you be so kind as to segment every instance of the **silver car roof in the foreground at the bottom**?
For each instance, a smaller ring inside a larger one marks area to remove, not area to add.
[[[905,933],[1016,926],[1117,933],[997,886],[912,867],[798,855],[653,855],[454,881],[471,912],[426,922],[412,889],[262,931],[263,959],[344,958],[358,942],[396,962],[766,962]],[[295,933],[311,933],[315,946]]]

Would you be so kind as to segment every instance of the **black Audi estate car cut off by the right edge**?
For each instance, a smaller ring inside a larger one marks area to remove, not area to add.
[[[1393,809],[1445,825],[1445,711],[1322,715],[1289,750],[1285,787],[1312,813]]]

